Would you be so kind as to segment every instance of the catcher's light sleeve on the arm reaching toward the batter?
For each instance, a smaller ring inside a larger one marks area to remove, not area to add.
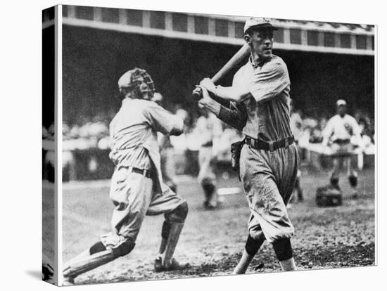
[[[156,103],[151,103],[144,112],[149,124],[156,131],[162,134],[171,134],[173,132],[182,132],[184,129],[183,119],[173,115]]]

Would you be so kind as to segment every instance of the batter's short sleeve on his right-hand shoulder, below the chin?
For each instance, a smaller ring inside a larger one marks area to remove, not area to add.
[[[274,98],[290,86],[288,69],[282,60],[270,61],[256,70],[254,79],[248,86],[255,101]]]

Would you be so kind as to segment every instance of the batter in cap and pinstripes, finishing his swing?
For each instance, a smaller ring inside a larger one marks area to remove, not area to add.
[[[231,87],[215,86],[203,79],[199,103],[245,135],[240,157],[240,177],[251,216],[248,238],[234,273],[245,273],[262,243],[272,243],[284,271],[296,270],[291,247],[293,225],[286,204],[298,170],[298,152],[290,128],[290,80],[284,61],[272,54],[273,30],[265,18],[249,18],[244,39],[250,58],[234,75]],[[231,101],[229,108],[209,93]],[[245,124],[243,124],[243,122]]]

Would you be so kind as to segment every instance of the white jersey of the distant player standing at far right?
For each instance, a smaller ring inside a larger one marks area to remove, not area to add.
[[[360,136],[360,128],[354,117],[348,114],[344,117],[335,115],[329,119],[323,134],[325,138],[331,138],[331,141],[350,140],[352,136]]]

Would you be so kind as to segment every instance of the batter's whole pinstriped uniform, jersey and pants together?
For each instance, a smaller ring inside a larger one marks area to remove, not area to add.
[[[246,86],[250,97],[243,101],[247,120],[243,134],[264,141],[291,136],[290,79],[284,61],[273,56],[266,63],[246,63],[234,76],[233,86]],[[286,204],[298,172],[296,145],[274,151],[243,145],[240,178],[251,210],[248,231],[252,238],[265,235],[269,243],[291,238],[293,225]]]

